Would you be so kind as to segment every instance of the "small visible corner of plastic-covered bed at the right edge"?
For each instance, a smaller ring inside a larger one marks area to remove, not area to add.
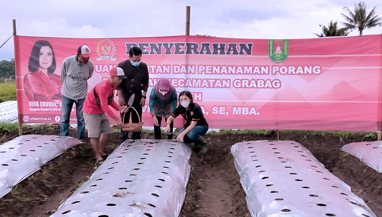
[[[341,150],[358,157],[364,164],[382,173],[382,141],[350,143],[342,146]]]

